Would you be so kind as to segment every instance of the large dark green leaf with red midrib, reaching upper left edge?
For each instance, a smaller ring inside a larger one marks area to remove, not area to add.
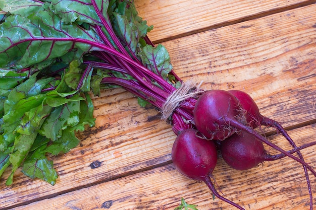
[[[0,66],[25,68],[56,59],[80,59],[91,45],[78,39],[99,42],[93,31],[77,24],[64,24],[52,11],[40,11],[27,19],[9,16],[0,25]]]

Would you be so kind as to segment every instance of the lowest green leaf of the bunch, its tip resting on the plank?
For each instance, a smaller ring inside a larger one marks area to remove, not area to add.
[[[46,145],[37,148],[31,156],[29,156],[23,164],[22,172],[31,177],[42,179],[51,185],[56,183],[58,178],[52,161],[48,161],[43,152]]]

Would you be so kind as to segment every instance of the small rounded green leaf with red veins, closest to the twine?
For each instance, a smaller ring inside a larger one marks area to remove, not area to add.
[[[143,64],[150,69],[156,75],[160,75],[166,81],[168,80],[168,74],[172,70],[170,63],[170,56],[167,49],[159,44],[156,47],[146,45],[141,49],[139,53]]]

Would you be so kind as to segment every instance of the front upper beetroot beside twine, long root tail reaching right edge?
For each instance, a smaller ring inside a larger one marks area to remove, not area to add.
[[[219,139],[223,141],[235,132],[241,130],[255,136],[258,141],[263,142],[284,155],[292,158],[306,167],[315,177],[316,172],[304,162],[277,145],[268,141],[245,122],[243,113],[240,112],[240,104],[235,96],[224,90],[205,91],[195,103],[193,117],[197,130],[206,138]],[[217,138],[217,136],[221,136]]]

